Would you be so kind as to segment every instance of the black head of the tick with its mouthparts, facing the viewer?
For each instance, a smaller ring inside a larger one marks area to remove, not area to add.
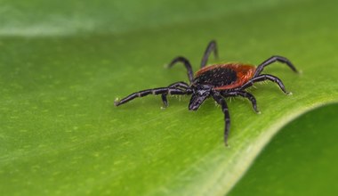
[[[189,102],[189,110],[197,110],[212,91],[211,86],[195,86]]]

